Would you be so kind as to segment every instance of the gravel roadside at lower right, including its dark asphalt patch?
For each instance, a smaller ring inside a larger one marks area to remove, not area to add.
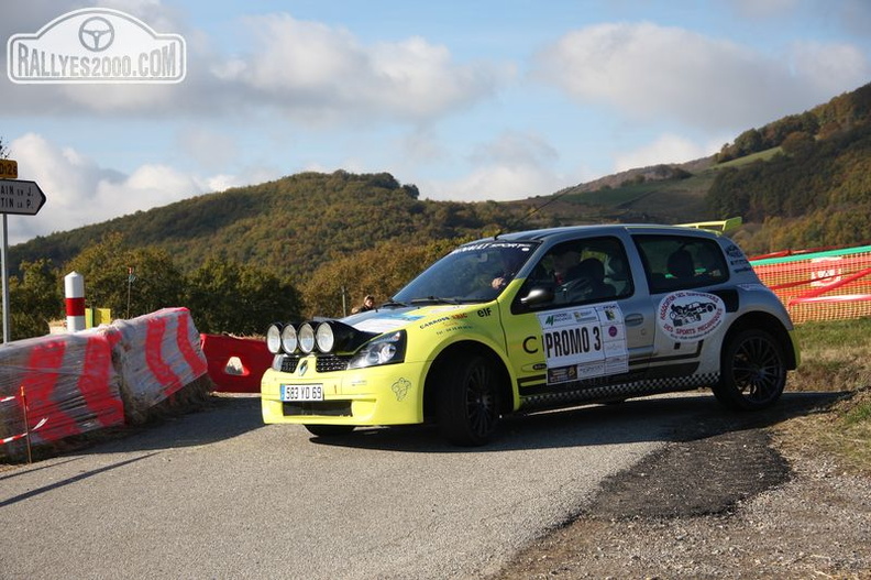
[[[782,413],[698,426],[493,578],[871,579],[871,479]]]

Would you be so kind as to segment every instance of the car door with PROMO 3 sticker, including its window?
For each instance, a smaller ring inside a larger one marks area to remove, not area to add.
[[[615,234],[553,244],[512,297],[503,322],[523,402],[583,400],[643,375],[653,316],[627,241]]]

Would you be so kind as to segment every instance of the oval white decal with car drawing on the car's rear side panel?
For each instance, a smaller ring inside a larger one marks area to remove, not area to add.
[[[657,308],[657,325],[676,342],[695,342],[723,325],[726,306],[719,296],[681,291],[663,296]]]

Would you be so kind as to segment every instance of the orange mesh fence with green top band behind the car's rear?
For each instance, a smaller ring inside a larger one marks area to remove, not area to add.
[[[871,245],[750,260],[794,322],[871,316]]]

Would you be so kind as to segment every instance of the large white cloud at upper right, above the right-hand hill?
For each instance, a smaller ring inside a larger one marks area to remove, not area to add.
[[[847,57],[820,86],[820,67],[839,55]],[[540,53],[534,75],[582,103],[721,130],[801,112],[860,86],[871,72],[867,58],[844,45],[805,45],[779,56],[679,28],[597,24]]]

